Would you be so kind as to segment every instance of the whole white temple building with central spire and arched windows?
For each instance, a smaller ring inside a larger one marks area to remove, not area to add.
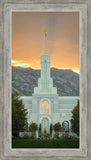
[[[77,105],[78,96],[59,96],[53,87],[50,77],[50,55],[47,53],[47,32],[45,32],[45,50],[41,56],[41,77],[32,96],[21,96],[28,110],[28,123],[41,124],[41,131],[50,133],[50,125],[61,123],[64,131],[71,130],[70,119],[72,110]]]

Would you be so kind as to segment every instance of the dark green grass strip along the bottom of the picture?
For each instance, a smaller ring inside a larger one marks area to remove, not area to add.
[[[22,139],[13,138],[12,148],[79,148],[79,139]]]

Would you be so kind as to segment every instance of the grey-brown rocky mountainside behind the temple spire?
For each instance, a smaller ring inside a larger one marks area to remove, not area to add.
[[[38,85],[40,70],[32,68],[12,67],[12,90],[19,94],[31,96],[34,87]],[[51,68],[53,85],[57,87],[58,94],[61,96],[79,95],[79,74],[72,70],[62,70]]]

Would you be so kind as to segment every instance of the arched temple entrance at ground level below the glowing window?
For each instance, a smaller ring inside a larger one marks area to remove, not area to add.
[[[49,120],[48,118],[43,118],[42,119],[42,123],[41,123],[41,128],[42,128],[42,133],[46,134],[46,133],[50,133],[50,127],[49,127]]]

